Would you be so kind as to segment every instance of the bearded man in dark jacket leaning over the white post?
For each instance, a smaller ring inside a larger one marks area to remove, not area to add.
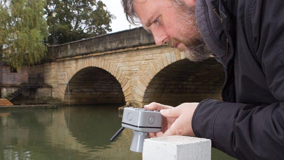
[[[211,54],[223,65],[223,101],[173,108],[145,105],[164,116],[151,137],[208,138],[237,159],[284,159],[284,1],[122,0],[127,20],[141,22],[155,43],[187,58]],[[212,51],[212,52],[211,52]]]

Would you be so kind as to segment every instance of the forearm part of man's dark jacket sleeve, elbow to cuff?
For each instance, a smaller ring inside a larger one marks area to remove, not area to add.
[[[197,137],[237,159],[283,159],[284,102],[269,106],[205,99],[196,108]]]

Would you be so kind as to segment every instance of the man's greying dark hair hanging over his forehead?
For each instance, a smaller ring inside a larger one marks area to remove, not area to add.
[[[124,9],[124,13],[126,15],[126,19],[129,23],[133,24],[133,25],[139,25],[141,24],[140,20],[138,19],[135,11],[134,11],[134,7],[133,7],[133,3],[135,0],[121,0],[121,5]],[[147,0],[145,0],[147,1]],[[144,3],[143,2],[137,2],[136,3]],[[171,0],[173,2],[175,2],[177,5],[182,5],[184,4],[184,2],[182,0]]]

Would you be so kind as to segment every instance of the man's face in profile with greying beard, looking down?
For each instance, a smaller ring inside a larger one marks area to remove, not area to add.
[[[177,4],[173,0],[134,0],[134,10],[143,27],[153,34],[155,43],[177,47],[192,61],[211,55],[195,18],[195,0]]]

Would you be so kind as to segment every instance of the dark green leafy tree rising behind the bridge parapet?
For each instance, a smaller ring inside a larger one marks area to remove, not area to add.
[[[53,11],[56,12],[56,41],[62,44],[111,31],[110,23],[115,16],[105,7],[102,1],[95,0],[47,0],[45,13],[49,26],[48,43],[53,43]]]

